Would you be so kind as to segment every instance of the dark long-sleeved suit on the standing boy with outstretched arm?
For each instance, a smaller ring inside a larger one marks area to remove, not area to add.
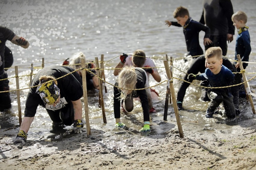
[[[181,27],[178,22],[172,22],[172,25]],[[200,22],[189,18],[183,27],[183,33],[187,45],[187,55],[197,56],[203,54],[203,49],[199,44],[199,32],[204,31],[204,38],[210,38],[210,29]]]

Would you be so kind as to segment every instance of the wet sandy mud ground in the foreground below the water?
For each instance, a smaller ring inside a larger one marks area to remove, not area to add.
[[[175,121],[166,132],[154,131],[154,126],[166,124],[155,122],[144,135],[131,128],[101,130],[93,125],[89,137],[86,129],[55,136],[39,132],[17,145],[6,141],[18,128],[1,129],[1,169],[256,169],[255,116],[233,126],[235,133],[207,125],[205,131],[191,131],[191,122],[182,122],[184,138]]]

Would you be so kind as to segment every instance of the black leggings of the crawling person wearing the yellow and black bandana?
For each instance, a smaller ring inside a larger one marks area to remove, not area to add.
[[[70,126],[74,123],[74,107],[72,102],[69,102],[65,105],[65,107],[59,110],[49,110],[46,109],[47,113],[49,114],[50,118],[53,122],[63,122],[64,125]]]

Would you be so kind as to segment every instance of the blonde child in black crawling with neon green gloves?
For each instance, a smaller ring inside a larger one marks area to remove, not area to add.
[[[117,86],[122,89],[117,88]],[[152,108],[152,102],[148,100],[150,89],[143,89],[146,87],[149,87],[149,84],[148,75],[145,70],[133,66],[125,66],[121,70],[114,86],[114,117],[116,119],[116,128],[124,128],[126,126],[120,120],[120,102],[122,103],[121,106],[124,111],[131,112],[133,110],[133,98],[139,97],[144,117],[144,126],[139,131],[150,131],[149,108]]]

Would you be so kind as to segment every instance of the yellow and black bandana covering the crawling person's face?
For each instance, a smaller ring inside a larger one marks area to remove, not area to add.
[[[45,81],[42,81],[39,84],[42,84],[44,82]],[[44,103],[50,105],[55,103],[59,98],[59,88],[53,81],[50,83],[39,85],[36,89],[36,93],[40,95]]]

